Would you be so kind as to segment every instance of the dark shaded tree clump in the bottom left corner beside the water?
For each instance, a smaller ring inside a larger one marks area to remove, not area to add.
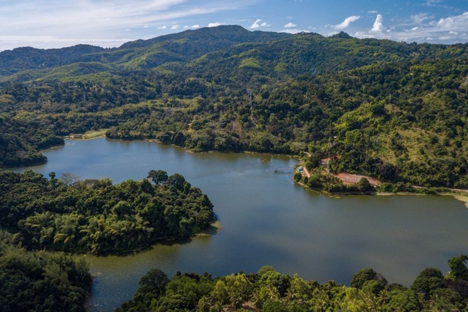
[[[27,251],[0,230],[0,306],[4,311],[88,311],[91,275],[85,260]]]

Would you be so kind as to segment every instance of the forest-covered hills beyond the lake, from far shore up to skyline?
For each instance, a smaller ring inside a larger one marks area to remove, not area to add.
[[[334,157],[333,173],[387,189],[468,188],[467,44],[220,26],[26,52],[0,52],[3,167],[43,163],[40,149],[62,136],[109,128],[194,151],[306,151],[310,170]]]

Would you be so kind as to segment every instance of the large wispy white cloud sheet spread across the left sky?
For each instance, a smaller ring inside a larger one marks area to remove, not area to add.
[[[0,36],[17,38],[11,42],[0,41],[0,51],[27,45],[62,47],[64,42],[77,39],[87,39],[80,43],[110,46],[110,42],[120,42],[122,38],[145,39],[144,26],[157,28],[187,17],[239,10],[253,3],[247,0],[228,3],[217,0],[0,0]],[[134,37],[127,38],[125,29],[132,29]],[[31,37],[55,38],[55,44],[27,41]],[[91,40],[93,38],[96,40]],[[19,43],[18,40],[26,41]]]

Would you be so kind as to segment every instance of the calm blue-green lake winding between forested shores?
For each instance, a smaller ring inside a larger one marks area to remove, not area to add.
[[[452,197],[344,196],[330,198],[294,185],[288,157],[248,153],[188,153],[148,141],[66,140],[44,152],[48,163],[30,167],[115,183],[142,179],[151,169],[178,172],[207,193],[223,228],[125,256],[84,256],[97,275],[92,310],[112,310],[130,299],[151,268],[168,275],[278,271],[349,284],[372,267],[409,286],[426,267],[448,271],[447,259],[468,254],[468,209]],[[17,169],[24,171],[26,169]],[[80,256],[83,257],[83,256]]]

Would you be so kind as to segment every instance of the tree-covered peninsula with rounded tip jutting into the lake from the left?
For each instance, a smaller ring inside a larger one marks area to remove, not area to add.
[[[0,224],[31,250],[131,251],[191,237],[215,220],[208,197],[177,173],[116,185],[49,176],[0,172]]]

